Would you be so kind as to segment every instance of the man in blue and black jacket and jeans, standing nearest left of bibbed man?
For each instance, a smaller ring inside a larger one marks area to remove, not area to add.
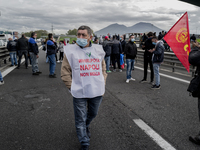
[[[49,58],[49,77],[56,78],[55,68],[56,68],[56,59],[55,55],[57,53],[57,44],[53,40],[53,34],[48,35],[49,40],[47,41],[47,57]]]

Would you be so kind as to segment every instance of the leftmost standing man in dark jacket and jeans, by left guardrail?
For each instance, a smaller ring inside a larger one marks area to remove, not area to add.
[[[9,42],[7,44],[7,49],[10,53],[10,59],[11,59],[11,66],[17,66],[17,40],[12,40],[12,38],[8,39]]]

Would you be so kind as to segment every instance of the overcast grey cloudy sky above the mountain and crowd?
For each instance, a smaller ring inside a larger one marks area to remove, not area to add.
[[[0,0],[0,30],[51,32],[53,24],[61,34],[83,24],[98,31],[139,22],[169,30],[186,11],[190,33],[200,33],[200,7],[178,0]]]

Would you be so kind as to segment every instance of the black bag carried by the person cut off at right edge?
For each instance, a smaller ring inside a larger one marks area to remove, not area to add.
[[[189,87],[187,89],[190,92],[190,96],[200,97],[200,76],[195,75],[194,78],[190,81]]]

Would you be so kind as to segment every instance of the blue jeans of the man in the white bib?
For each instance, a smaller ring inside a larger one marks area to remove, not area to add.
[[[90,145],[86,127],[98,114],[102,96],[95,98],[73,98],[76,133],[81,145]],[[87,109],[88,108],[88,109]]]

